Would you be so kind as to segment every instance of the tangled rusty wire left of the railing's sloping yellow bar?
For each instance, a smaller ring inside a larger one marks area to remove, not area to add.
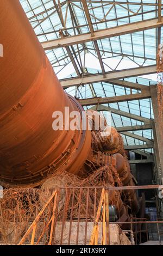
[[[46,191],[46,194],[50,196],[49,191]],[[17,244],[42,209],[42,202],[42,191],[36,188],[4,190],[3,199],[0,200],[1,242]],[[41,216],[43,226],[51,216],[51,207],[49,204],[46,212]]]

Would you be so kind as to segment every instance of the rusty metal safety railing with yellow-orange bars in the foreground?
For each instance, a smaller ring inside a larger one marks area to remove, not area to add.
[[[141,235],[145,233],[148,240],[147,224],[163,224],[163,221],[147,221],[145,218],[124,220],[117,222],[109,220],[109,205],[111,191],[133,189],[158,189],[160,185],[122,186],[122,187],[64,187],[52,191],[33,223],[26,230],[18,245],[30,240],[30,245],[110,245],[110,224],[128,225],[128,233],[132,233],[137,244],[137,235],[141,243]],[[46,193],[45,193],[46,197]],[[48,211],[49,210],[49,211]],[[46,218],[43,218],[43,214]],[[141,229],[145,224],[146,228]],[[40,228],[43,226],[43,228]],[[140,226],[137,229],[137,225]],[[126,226],[125,226],[126,227]],[[90,229],[92,232],[90,233]],[[126,229],[126,228],[125,228]],[[123,230],[123,229],[122,229]],[[47,234],[45,234],[47,231]],[[27,240],[28,239],[28,240]],[[131,235],[130,235],[131,239]],[[134,240],[134,239],[133,239]],[[133,243],[132,243],[133,244]]]

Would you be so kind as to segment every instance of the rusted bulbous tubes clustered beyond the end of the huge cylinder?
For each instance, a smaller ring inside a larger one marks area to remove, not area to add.
[[[92,115],[91,111],[87,112]],[[95,122],[99,113],[93,112],[93,114],[93,121]],[[134,181],[130,173],[130,164],[124,152],[122,136],[114,127],[106,126],[105,131],[108,131],[107,136],[102,136],[101,130],[92,131],[94,163],[100,166],[109,166],[111,164],[116,168],[123,186],[134,186]],[[129,205],[131,214],[136,214],[139,211],[139,203],[134,190],[124,191],[121,198],[124,204]],[[120,205],[120,214],[122,215],[126,210],[121,202]]]

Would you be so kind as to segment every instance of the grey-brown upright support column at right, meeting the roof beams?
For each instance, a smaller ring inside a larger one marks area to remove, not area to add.
[[[152,123],[153,137],[154,137],[154,152],[156,159],[156,167],[158,169],[158,178],[163,184],[163,140],[161,138],[159,128],[159,111],[158,111],[158,94],[155,86],[150,86],[154,121]]]

